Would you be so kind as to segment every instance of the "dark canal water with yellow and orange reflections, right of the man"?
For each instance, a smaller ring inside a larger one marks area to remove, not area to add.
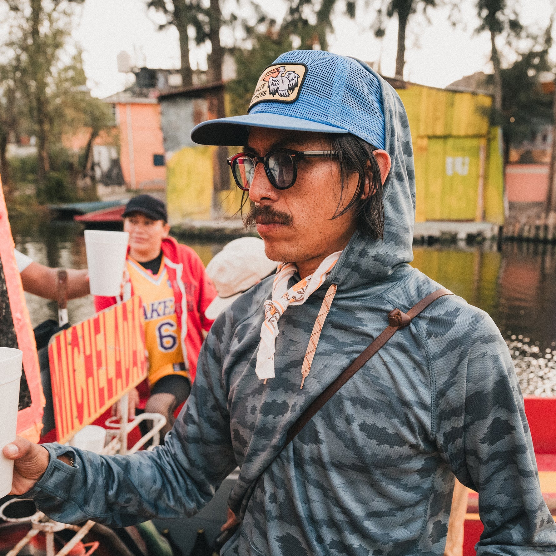
[[[442,249],[414,247],[413,265],[488,312],[504,336],[556,345],[556,248],[504,243]]]

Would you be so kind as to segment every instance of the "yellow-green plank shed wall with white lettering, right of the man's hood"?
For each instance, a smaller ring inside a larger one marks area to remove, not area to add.
[[[398,90],[415,153],[416,221],[503,222],[502,153],[492,98],[408,85]]]

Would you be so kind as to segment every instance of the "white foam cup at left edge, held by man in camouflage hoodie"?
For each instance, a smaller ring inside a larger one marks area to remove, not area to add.
[[[5,458],[2,449],[16,439],[22,358],[21,350],[0,347],[0,498],[12,490],[13,460]]]

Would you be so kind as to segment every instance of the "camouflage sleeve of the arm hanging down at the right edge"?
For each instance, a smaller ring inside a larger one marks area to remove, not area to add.
[[[508,347],[485,312],[445,306],[425,332],[436,383],[433,434],[451,471],[479,492],[484,533],[477,555],[554,553],[556,529]]]

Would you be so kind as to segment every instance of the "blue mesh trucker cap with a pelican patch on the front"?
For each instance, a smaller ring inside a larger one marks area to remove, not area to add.
[[[246,145],[251,126],[353,133],[384,148],[381,85],[355,58],[319,50],[285,52],[262,72],[245,116],[202,122],[191,139],[201,145]]]

